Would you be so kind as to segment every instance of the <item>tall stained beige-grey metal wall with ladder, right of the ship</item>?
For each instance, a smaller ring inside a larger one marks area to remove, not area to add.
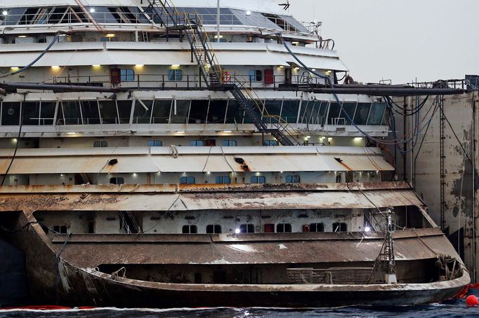
[[[405,123],[402,116],[395,116],[396,131],[398,137],[401,136],[398,139],[406,136],[406,139],[412,139],[414,142],[414,147],[412,142],[409,142],[405,155],[397,150],[398,177],[407,179],[416,188],[417,193],[424,198],[432,219],[438,226],[442,225],[470,269],[471,277],[478,281],[479,277],[475,275],[475,269],[479,269],[479,263],[475,258],[475,243],[478,235],[475,234],[474,221],[475,216],[478,215],[477,208],[474,209],[474,179],[477,178],[477,172],[473,173],[478,167],[478,163],[475,163],[478,155],[473,146],[479,134],[479,122],[477,118],[474,120],[478,112],[478,92],[442,98],[443,120],[440,118],[441,101],[436,97],[429,97],[419,111],[419,119],[408,116]],[[412,110],[418,102],[423,100],[424,97],[418,97],[418,99],[406,97],[397,99],[395,102]],[[431,118],[432,114],[434,115],[431,123],[428,124],[428,118]],[[424,127],[424,130],[414,135],[412,132],[418,123],[419,127]],[[444,150],[443,169],[441,140]],[[403,146],[401,144],[402,151],[404,151]],[[441,178],[442,171],[444,174]],[[444,184],[443,195],[441,195],[441,182]],[[441,218],[441,206],[444,210],[443,218]]]

